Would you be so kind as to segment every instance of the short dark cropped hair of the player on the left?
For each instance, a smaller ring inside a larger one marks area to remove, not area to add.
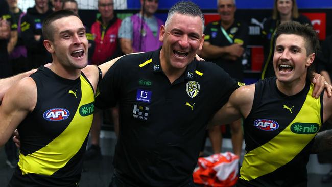
[[[69,16],[76,16],[80,18],[76,13],[70,10],[59,10],[47,16],[43,21],[41,29],[44,39],[54,41],[54,28],[52,23],[58,19]]]

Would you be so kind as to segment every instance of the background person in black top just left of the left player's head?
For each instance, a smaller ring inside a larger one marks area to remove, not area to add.
[[[29,69],[52,62],[51,55],[44,48],[41,33],[43,20],[53,12],[48,2],[49,0],[35,0],[35,6],[28,8],[21,20],[21,37],[27,48]]]

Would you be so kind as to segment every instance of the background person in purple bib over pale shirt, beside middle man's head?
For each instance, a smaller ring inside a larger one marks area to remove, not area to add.
[[[124,54],[153,51],[162,45],[159,29],[164,22],[154,16],[158,3],[159,0],[140,0],[140,11],[122,21],[118,37]]]

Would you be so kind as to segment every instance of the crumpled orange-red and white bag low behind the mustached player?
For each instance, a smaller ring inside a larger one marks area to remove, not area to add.
[[[233,186],[238,180],[239,156],[219,153],[198,158],[198,167],[193,173],[194,183],[204,186]]]

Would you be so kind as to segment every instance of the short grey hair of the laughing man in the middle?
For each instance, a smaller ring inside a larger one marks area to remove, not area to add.
[[[182,15],[188,15],[188,16],[199,16],[202,20],[202,31],[204,31],[204,15],[201,9],[198,5],[193,3],[192,1],[180,1],[177,2],[175,5],[173,5],[169,13],[167,15],[167,19],[165,22],[165,27],[170,23],[171,18],[174,14],[182,14]]]

